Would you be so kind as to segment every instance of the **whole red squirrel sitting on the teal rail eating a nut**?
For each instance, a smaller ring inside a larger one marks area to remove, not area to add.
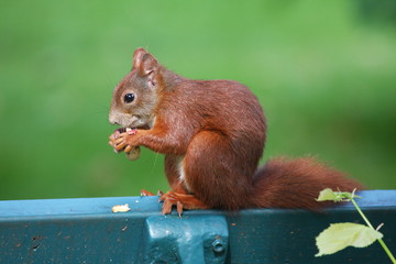
[[[266,122],[257,98],[233,80],[193,80],[144,48],[113,91],[109,121],[122,129],[109,144],[139,157],[139,146],[165,154],[172,190],[163,213],[183,209],[301,208],[319,210],[324,188],[362,186],[312,157],[270,160],[257,168]],[[132,133],[125,129],[133,129]],[[145,195],[152,195],[143,191]]]

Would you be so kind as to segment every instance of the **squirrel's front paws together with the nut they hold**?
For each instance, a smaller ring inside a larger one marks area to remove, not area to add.
[[[125,152],[127,157],[131,161],[138,160],[140,156],[140,146],[130,144],[133,135],[138,132],[136,129],[118,129],[109,136],[109,145],[114,148],[116,153]]]

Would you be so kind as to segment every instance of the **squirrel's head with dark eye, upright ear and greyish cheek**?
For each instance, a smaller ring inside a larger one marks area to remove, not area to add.
[[[144,48],[133,53],[132,70],[113,91],[109,122],[122,128],[153,127],[162,81],[162,66]]]

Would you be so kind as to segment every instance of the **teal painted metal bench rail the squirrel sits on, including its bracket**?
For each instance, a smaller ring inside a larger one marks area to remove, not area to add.
[[[359,193],[396,252],[396,190]],[[131,211],[113,213],[114,205]],[[333,222],[361,222],[352,205],[321,213],[254,209],[162,216],[157,197],[0,201],[0,263],[391,263],[376,242],[315,257]]]

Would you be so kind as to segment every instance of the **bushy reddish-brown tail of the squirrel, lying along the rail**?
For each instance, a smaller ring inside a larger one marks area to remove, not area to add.
[[[354,188],[363,189],[363,186],[314,157],[280,157],[270,160],[256,172],[250,198],[253,207],[257,208],[319,210],[329,205],[315,199],[326,188],[352,191]]]

